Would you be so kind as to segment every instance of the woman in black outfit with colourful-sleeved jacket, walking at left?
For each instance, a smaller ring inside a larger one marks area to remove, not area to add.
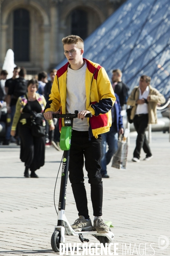
[[[28,93],[19,97],[16,105],[16,111],[11,128],[11,135],[15,136],[16,127],[18,123],[19,136],[21,139],[20,145],[20,159],[25,163],[26,169],[24,177],[29,177],[29,169],[31,171],[30,177],[37,178],[35,171],[40,169],[45,162],[45,136],[35,137],[31,133],[31,116],[32,113],[42,113],[42,125],[45,125],[43,119],[43,110],[46,105],[44,96],[36,93],[38,89],[38,81],[31,79],[28,81]],[[32,112],[33,111],[33,112]],[[41,116],[41,115],[40,115]],[[50,120],[49,129],[54,130],[54,123]]]

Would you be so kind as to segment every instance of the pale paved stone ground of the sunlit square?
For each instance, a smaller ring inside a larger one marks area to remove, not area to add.
[[[108,166],[110,179],[103,180],[103,218],[111,220],[119,255],[170,256],[170,142],[169,134],[152,134],[153,159],[149,162],[131,162],[136,134],[130,135],[127,170]],[[54,255],[51,235],[57,224],[54,209],[54,185],[62,152],[46,148],[46,162],[37,174],[39,179],[24,178],[23,163],[19,159],[20,148],[0,145],[0,255]],[[142,151],[141,159],[144,158]],[[90,199],[90,186],[85,173],[85,184]],[[56,204],[60,177],[57,180]],[[91,201],[88,201],[93,219]],[[72,224],[77,209],[68,181],[66,216]],[[88,236],[89,243],[97,243]],[[66,242],[79,243],[75,236],[67,236]],[[167,240],[168,242],[168,240]],[[125,254],[131,243],[131,253]],[[140,246],[139,244],[143,243]],[[153,249],[150,247],[150,244]],[[144,244],[146,252],[143,253]],[[148,249],[147,249],[148,248]],[[113,252],[113,247],[111,247]],[[136,250],[137,249],[137,250]],[[58,253],[59,254],[59,253]],[[70,253],[69,253],[70,255]],[[115,254],[116,255],[116,254]]]

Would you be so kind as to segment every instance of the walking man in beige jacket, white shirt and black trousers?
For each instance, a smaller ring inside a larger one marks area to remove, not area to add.
[[[153,156],[145,135],[148,124],[157,123],[157,103],[165,102],[164,96],[158,90],[150,85],[150,76],[141,76],[139,87],[135,87],[128,100],[127,105],[132,106],[130,119],[133,119],[134,127],[138,133],[136,139],[136,148],[133,152],[133,162],[139,162],[141,148],[143,148],[146,157],[144,160],[150,160]]]

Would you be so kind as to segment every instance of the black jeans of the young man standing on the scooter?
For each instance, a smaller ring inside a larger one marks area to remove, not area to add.
[[[94,216],[102,216],[103,186],[100,174],[100,160],[102,156],[101,141],[101,135],[99,135],[98,139],[92,137],[89,140],[88,131],[72,131],[69,179],[79,212],[78,215],[84,216],[85,219],[88,219],[89,215],[83,173],[84,157],[85,169],[88,172],[88,183],[91,184],[91,201]]]

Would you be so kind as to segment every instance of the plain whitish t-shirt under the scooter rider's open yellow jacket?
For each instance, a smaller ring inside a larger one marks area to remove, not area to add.
[[[85,92],[85,73],[87,64],[79,70],[72,70],[68,66],[67,72],[67,94],[66,94],[66,113],[74,113],[75,110],[86,110],[86,92]],[[75,118],[73,120],[73,130],[88,131],[88,120],[84,118]]]

